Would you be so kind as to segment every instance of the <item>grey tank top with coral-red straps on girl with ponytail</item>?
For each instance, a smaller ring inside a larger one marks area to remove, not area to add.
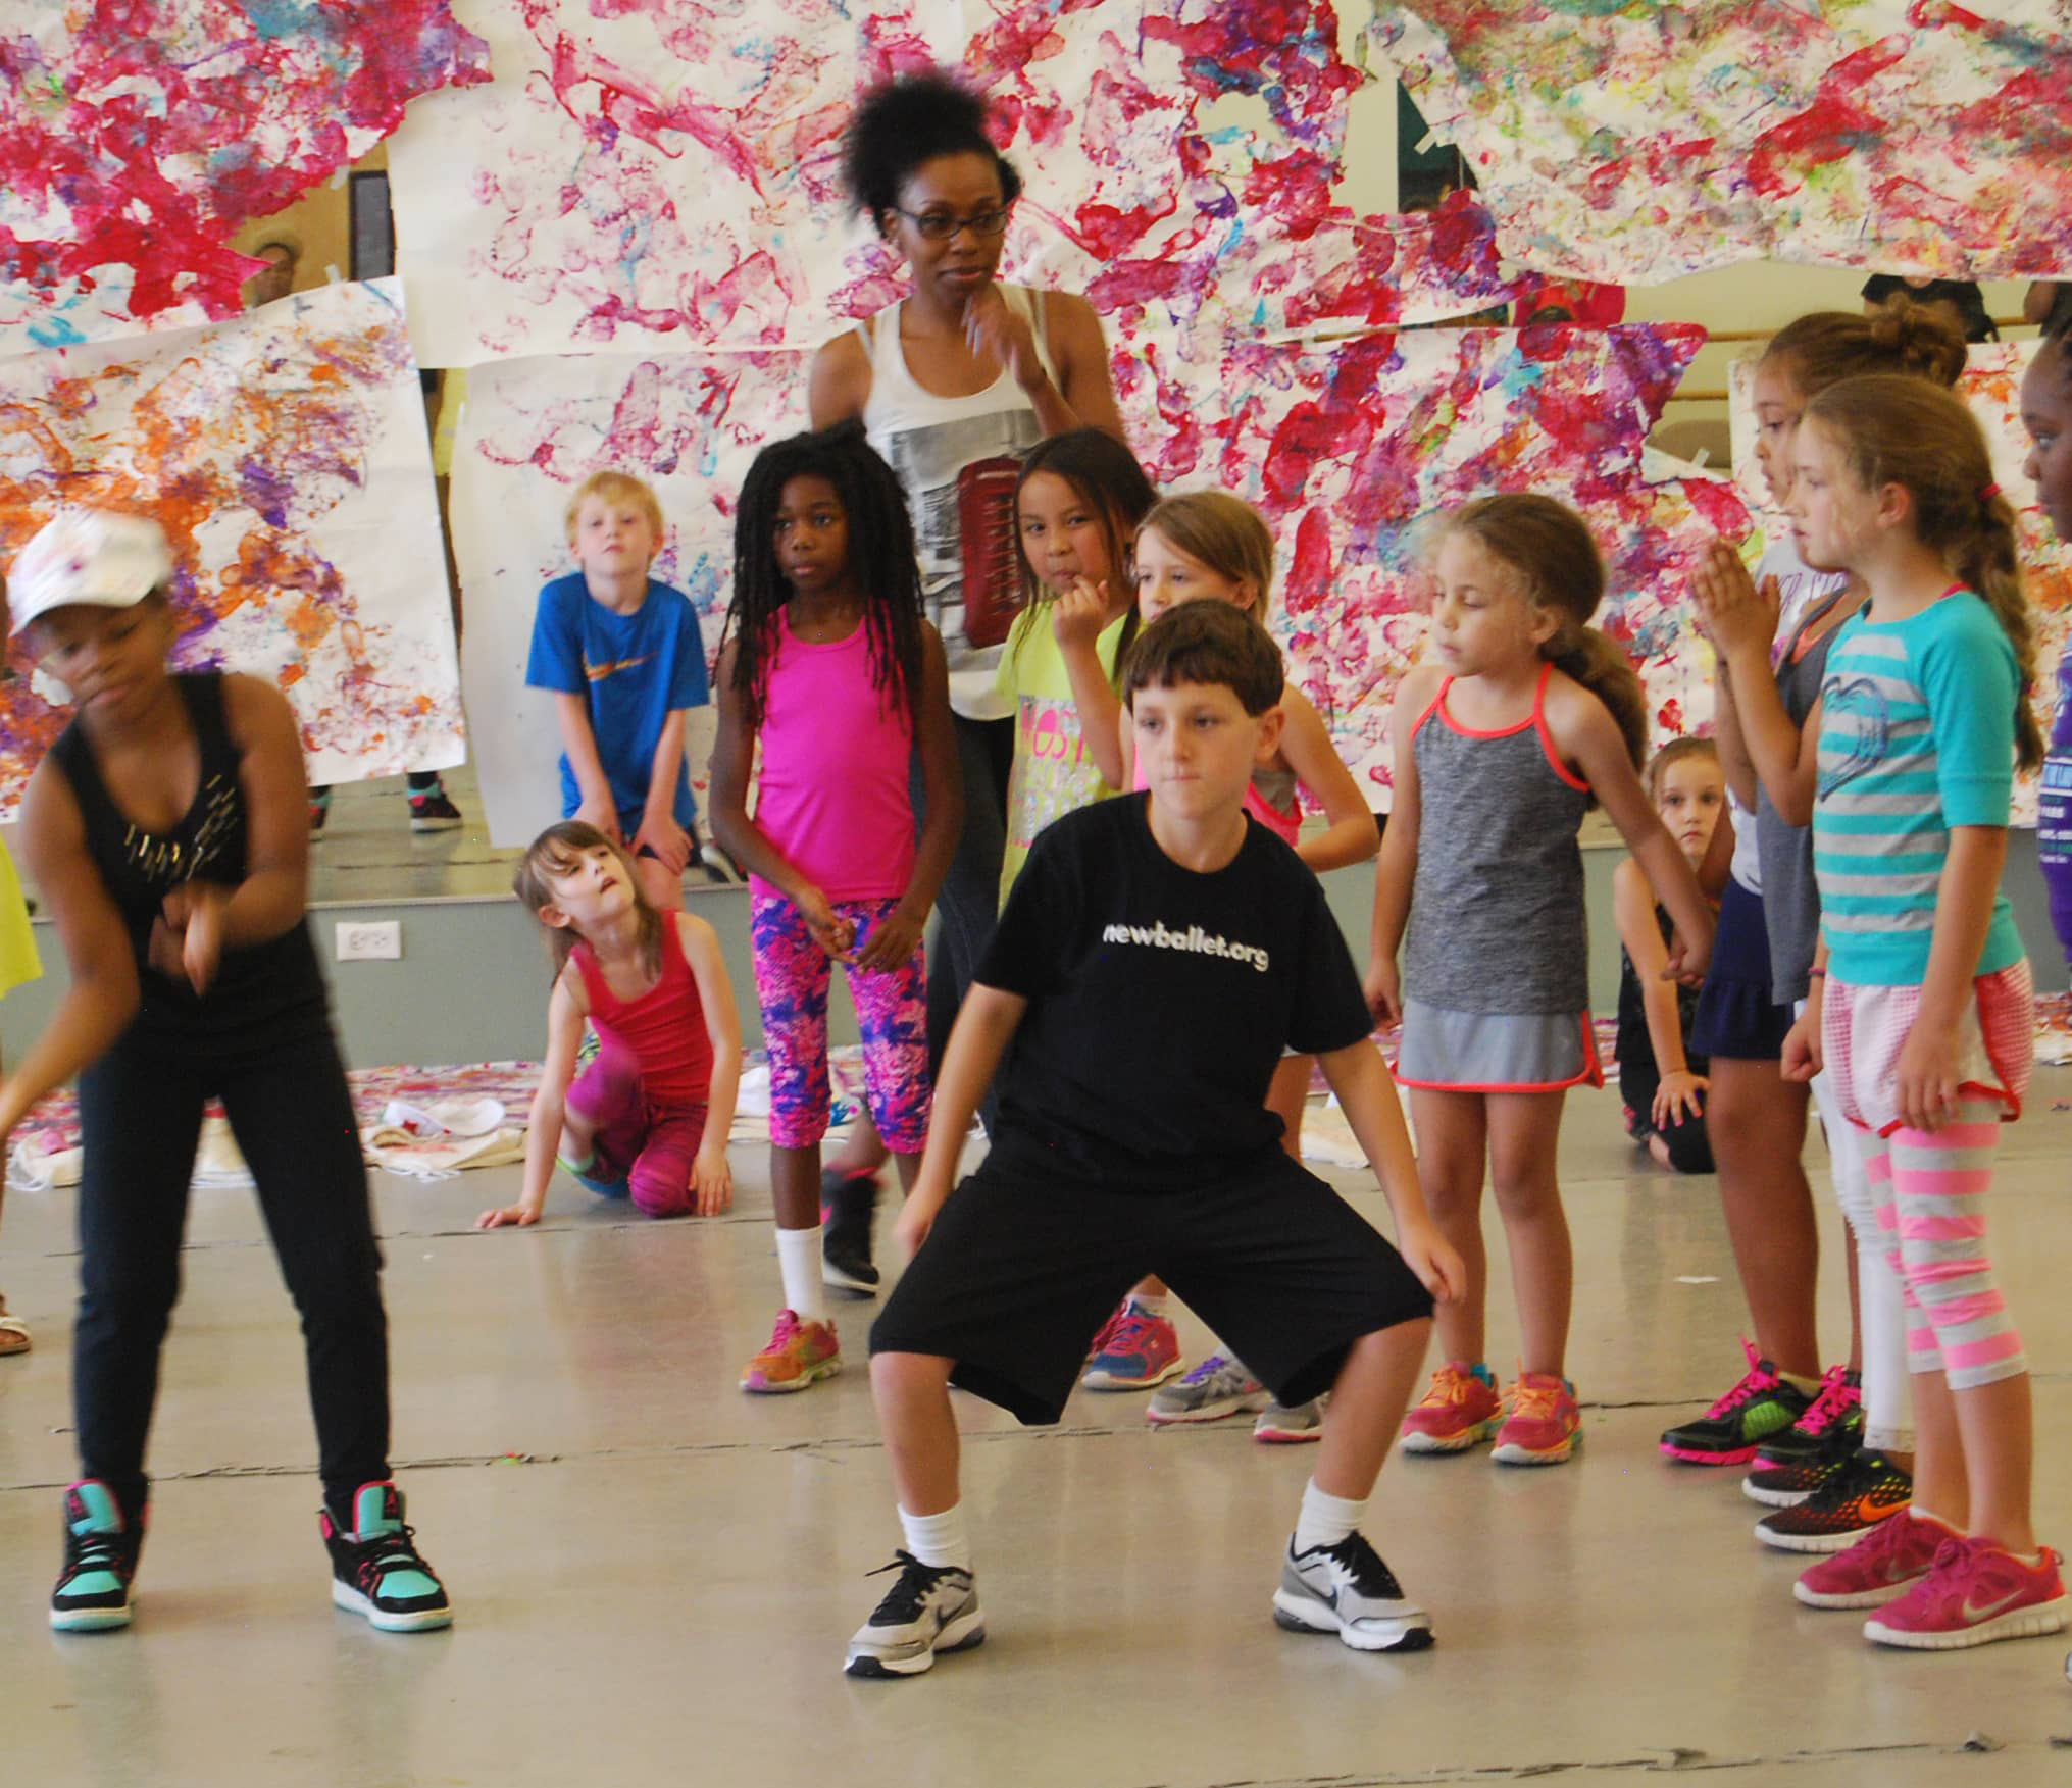
[[[1589,1009],[1589,922],[1577,831],[1589,789],[1546,733],[1548,677],[1533,715],[1502,733],[1465,731],[1446,690],[1411,723],[1417,762],[1417,878],[1403,992],[1444,1011]]]

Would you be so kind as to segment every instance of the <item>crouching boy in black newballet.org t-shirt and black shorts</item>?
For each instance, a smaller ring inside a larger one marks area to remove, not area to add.
[[[1148,628],[1125,700],[1150,794],[1057,820],[1001,914],[899,1216],[914,1260],[870,1334],[905,1548],[852,1676],[912,1676],[984,1637],[949,1386],[1057,1421],[1086,1338],[1146,1272],[1283,1403],[1332,1392],[1274,1620],[1361,1651],[1432,1643],[1357,1527],[1461,1262],[1417,1191],[1324,891],[1243,810],[1280,688],[1272,640],[1227,603]],[[1322,1059],[1401,1256],[1280,1150],[1266,1088],[1285,1046]],[[951,1198],[1003,1057],[992,1150]]]

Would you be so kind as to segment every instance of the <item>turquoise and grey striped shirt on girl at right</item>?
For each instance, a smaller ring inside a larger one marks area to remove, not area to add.
[[[1830,968],[1921,986],[1952,827],[2004,827],[2020,675],[1993,611],[1954,590],[1904,622],[1842,624],[1821,680],[1813,876]],[[2022,959],[2008,897],[1973,974]]]

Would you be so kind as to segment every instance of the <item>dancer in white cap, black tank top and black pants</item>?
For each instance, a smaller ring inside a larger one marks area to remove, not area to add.
[[[259,677],[166,663],[166,535],[68,512],[15,561],[15,630],[75,719],[29,779],[21,835],[70,963],[50,1026],[0,1082],[0,1137],[79,1075],[81,1297],[58,1628],[126,1626],[157,1355],[203,1104],[222,1098],[303,1318],[332,1599],[385,1631],[452,1610],[387,1467],[387,1320],[352,1098],[303,914],[298,725]]]

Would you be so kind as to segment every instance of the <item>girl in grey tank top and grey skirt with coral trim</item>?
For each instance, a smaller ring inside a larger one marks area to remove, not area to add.
[[[1479,497],[1446,516],[1434,574],[1432,657],[1397,694],[1368,999],[1403,1019],[1417,1177],[1467,1287],[1438,1309],[1442,1365],[1403,1446],[1465,1452],[1494,1436],[1506,1465],[1558,1465],[1581,1415],[1562,1376],[1573,1260],[1554,1142],[1566,1090],[1604,1084],[1583,814],[1604,806],[1670,910],[1672,974],[1703,972],[1711,907],[1641,787],[1647,702],[1589,626],[1604,561],[1583,522],[1552,497]],[[1508,1411],[1484,1361],[1484,1158],[1519,1289]]]

